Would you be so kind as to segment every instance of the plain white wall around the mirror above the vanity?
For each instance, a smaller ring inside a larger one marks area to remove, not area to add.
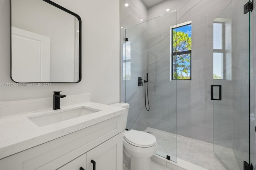
[[[53,0],[82,18],[82,81],[52,83],[50,87],[1,87],[0,101],[91,93],[99,103],[120,101],[120,23],[118,0]],[[9,0],[0,1],[0,83],[10,79]],[[0,111],[1,115],[1,111]]]

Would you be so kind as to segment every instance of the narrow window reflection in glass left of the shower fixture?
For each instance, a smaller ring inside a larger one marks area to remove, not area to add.
[[[127,41],[123,43],[123,80],[131,79],[131,42]]]

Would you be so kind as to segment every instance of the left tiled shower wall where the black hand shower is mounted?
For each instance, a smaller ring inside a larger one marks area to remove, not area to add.
[[[129,7],[124,4],[128,2]],[[123,43],[125,38],[131,42],[131,79],[123,79],[123,69],[121,69],[121,101],[130,104],[129,115],[126,128],[144,130],[147,126],[142,125],[142,120],[145,115],[144,110],[144,87],[138,86],[138,77],[144,80],[147,71],[147,51],[148,43],[146,36],[146,27],[142,26],[139,29],[131,28],[126,32],[127,28],[142,23],[140,19],[147,20],[147,8],[141,0],[125,1],[120,0],[121,17],[126,18],[121,20],[121,53],[123,52]],[[123,65],[121,59],[121,67]],[[127,72],[129,72],[127,70]],[[129,89],[129,90],[126,90]]]

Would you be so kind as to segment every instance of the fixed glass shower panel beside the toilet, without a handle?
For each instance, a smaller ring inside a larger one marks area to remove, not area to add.
[[[170,80],[170,41],[176,18],[174,11],[126,29],[122,61],[126,103],[130,104],[128,130],[153,134],[158,142],[156,154],[174,162],[177,88],[176,81]]]

